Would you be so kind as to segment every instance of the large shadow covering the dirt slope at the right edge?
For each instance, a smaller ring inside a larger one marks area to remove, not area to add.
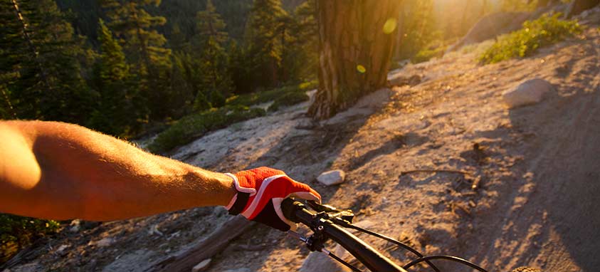
[[[555,86],[557,93],[542,103],[510,110],[512,127],[483,132],[482,136],[500,140],[488,145],[515,145],[510,148],[520,150],[517,156],[525,163],[511,169],[517,174],[512,179],[488,188],[500,194],[495,203],[500,208],[492,210],[507,211],[507,216],[487,214],[475,219],[475,231],[463,237],[470,240],[468,244],[481,245],[465,254],[478,256],[475,263],[495,260],[500,266],[542,266],[544,271],[596,271],[600,267],[597,84],[591,84],[591,92]],[[477,150],[463,152],[461,157],[482,158]],[[482,237],[490,233],[498,235],[492,240]],[[518,261],[509,264],[515,256]],[[563,267],[569,260],[578,267]],[[496,269],[507,271],[508,267]]]

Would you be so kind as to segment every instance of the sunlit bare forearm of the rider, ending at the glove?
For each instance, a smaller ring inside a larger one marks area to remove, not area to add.
[[[14,194],[6,196],[8,204],[1,203],[4,212],[104,221],[226,205],[234,194],[224,174],[151,155],[84,127],[35,121],[8,125],[23,135],[40,175],[12,181],[8,192]]]

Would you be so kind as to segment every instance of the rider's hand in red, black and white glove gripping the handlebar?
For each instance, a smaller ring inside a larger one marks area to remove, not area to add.
[[[319,193],[278,169],[259,167],[227,175],[233,178],[238,192],[226,206],[229,214],[241,214],[280,231],[296,228],[295,223],[283,216],[283,199],[298,197],[321,202]]]

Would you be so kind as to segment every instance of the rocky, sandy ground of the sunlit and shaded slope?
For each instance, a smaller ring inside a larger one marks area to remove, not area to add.
[[[312,122],[303,103],[211,132],[171,155],[222,172],[285,169],[325,203],[353,209],[356,221],[426,254],[461,256],[489,271],[597,271],[599,25],[520,60],[481,66],[480,48],[393,71],[420,75],[421,83],[379,90],[331,120]],[[502,92],[533,78],[553,90],[540,103],[508,109]],[[329,169],[344,170],[345,182],[319,184],[317,175]],[[465,173],[409,172],[445,169]],[[222,208],[198,208],[100,225],[74,221],[8,271],[143,271],[227,219]],[[409,260],[375,245],[399,263]],[[308,253],[255,225],[208,271],[298,271]]]

